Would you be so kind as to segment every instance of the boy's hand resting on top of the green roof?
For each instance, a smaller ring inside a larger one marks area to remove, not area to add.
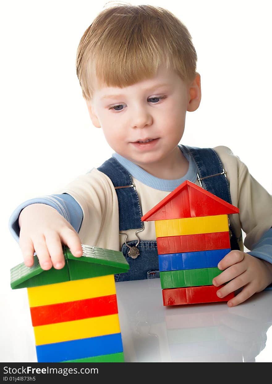
[[[26,266],[34,263],[34,252],[44,270],[61,269],[65,265],[62,244],[75,257],[83,254],[81,240],[74,228],[54,208],[46,204],[30,204],[19,216],[19,246]]]

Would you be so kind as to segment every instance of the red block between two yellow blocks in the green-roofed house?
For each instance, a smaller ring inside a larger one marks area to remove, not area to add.
[[[118,313],[116,295],[30,308],[33,327],[115,313]]]

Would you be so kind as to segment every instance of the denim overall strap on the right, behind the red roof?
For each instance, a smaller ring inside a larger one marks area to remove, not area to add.
[[[188,146],[184,147],[187,148],[188,152],[191,154],[197,165],[201,184],[204,189],[220,197],[229,204],[232,204],[229,182],[226,175],[224,174],[222,162],[216,151],[214,151],[212,148],[196,148]],[[230,239],[231,249],[240,250],[237,238],[231,226],[229,229],[232,234]]]

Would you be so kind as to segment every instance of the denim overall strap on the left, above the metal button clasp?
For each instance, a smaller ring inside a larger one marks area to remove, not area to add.
[[[107,175],[115,187],[119,207],[119,230],[143,228],[138,193],[128,171],[113,157],[97,169]]]

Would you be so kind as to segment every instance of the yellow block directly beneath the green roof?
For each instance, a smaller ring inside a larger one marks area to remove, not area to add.
[[[116,294],[114,275],[27,288],[30,307]]]

